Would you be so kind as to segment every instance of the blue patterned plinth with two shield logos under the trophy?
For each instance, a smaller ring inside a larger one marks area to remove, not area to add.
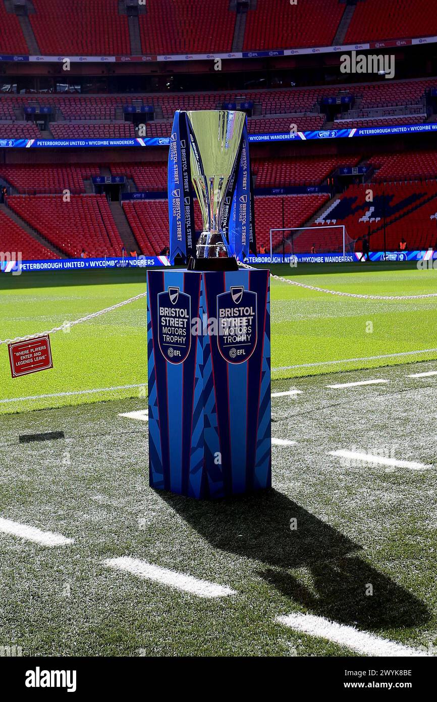
[[[147,347],[150,485],[270,487],[269,271],[149,270]]]

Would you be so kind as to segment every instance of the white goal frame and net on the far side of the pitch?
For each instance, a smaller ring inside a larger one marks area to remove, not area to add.
[[[342,224],[270,230],[270,256],[273,253],[342,253],[345,256],[353,251],[354,243]]]

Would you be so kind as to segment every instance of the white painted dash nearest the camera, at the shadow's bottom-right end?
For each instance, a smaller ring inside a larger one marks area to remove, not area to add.
[[[339,624],[323,616],[313,614],[289,614],[278,616],[276,621],[295,631],[328,639],[336,644],[367,656],[427,656],[425,651],[418,651],[395,641],[384,639],[368,631],[360,631],[354,626]]]

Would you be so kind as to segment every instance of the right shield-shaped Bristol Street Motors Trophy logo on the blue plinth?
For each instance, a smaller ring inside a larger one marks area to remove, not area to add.
[[[243,363],[257,345],[257,293],[243,286],[217,295],[217,343],[228,363]]]

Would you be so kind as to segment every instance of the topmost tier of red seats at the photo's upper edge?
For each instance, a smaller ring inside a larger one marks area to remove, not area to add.
[[[236,2],[147,0],[128,17],[119,0],[33,0],[29,26],[45,55],[191,54],[330,46],[377,39],[426,37],[437,33],[436,0],[257,0],[238,12]],[[133,37],[130,37],[130,23]],[[133,27],[132,27],[133,25]],[[32,53],[13,4],[0,1],[0,51]],[[133,41],[132,41],[133,39]]]

